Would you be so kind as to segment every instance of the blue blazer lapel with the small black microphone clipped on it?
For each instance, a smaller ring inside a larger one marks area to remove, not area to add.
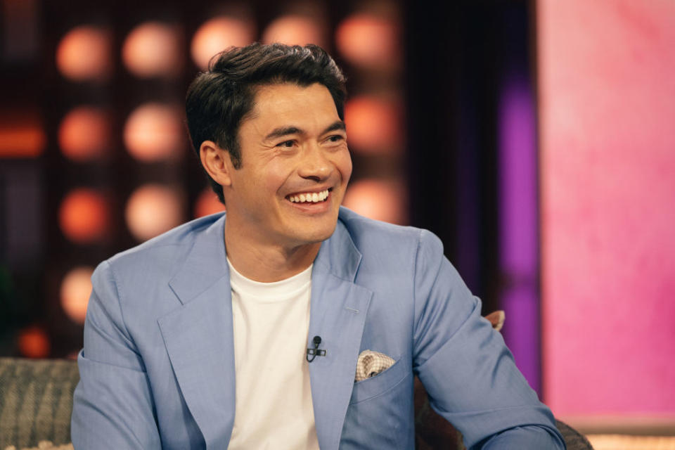
[[[309,364],[316,435],[321,449],[338,449],[342,424],[354,386],[371,290],[354,284],[361,253],[338,221],[323,242],[311,274],[311,313],[307,347],[321,336],[320,349]]]

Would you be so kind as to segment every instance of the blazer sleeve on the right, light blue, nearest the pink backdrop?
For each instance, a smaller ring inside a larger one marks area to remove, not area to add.
[[[429,231],[420,232],[414,300],[413,370],[468,449],[565,449],[551,410]]]

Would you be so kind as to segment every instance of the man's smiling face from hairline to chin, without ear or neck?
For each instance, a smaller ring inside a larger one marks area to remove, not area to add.
[[[224,186],[236,236],[287,249],[330,237],[352,174],[344,128],[322,84],[257,89],[238,132],[242,165]]]

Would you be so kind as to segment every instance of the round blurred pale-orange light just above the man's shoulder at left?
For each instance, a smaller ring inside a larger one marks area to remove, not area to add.
[[[182,210],[181,197],[174,189],[146,184],[131,194],[124,215],[131,234],[147,240],[179,225]]]

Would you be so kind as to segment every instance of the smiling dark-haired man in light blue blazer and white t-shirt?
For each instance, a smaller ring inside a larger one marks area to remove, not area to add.
[[[412,449],[415,374],[468,447],[564,448],[439,240],[340,208],[344,86],[319,47],[278,44],[195,79],[227,212],[96,269],[76,448]]]

